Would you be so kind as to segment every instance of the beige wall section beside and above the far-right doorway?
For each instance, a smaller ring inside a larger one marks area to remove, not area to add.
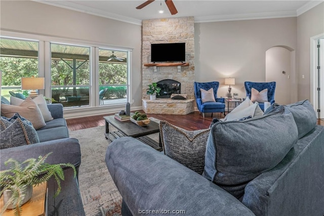
[[[324,3],[297,17],[298,101],[310,100],[310,38],[321,33],[324,33]]]

